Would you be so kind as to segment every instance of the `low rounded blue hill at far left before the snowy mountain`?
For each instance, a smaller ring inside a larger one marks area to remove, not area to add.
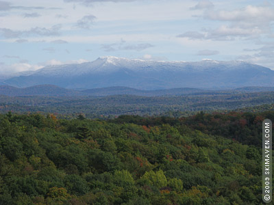
[[[56,85],[36,85],[18,88],[10,85],[0,85],[0,95],[6,96],[83,96],[81,92],[67,90]]]

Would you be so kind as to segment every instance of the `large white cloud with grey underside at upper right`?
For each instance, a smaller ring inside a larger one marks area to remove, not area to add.
[[[206,8],[210,1],[200,1],[195,8]],[[202,6],[203,5],[203,6]],[[202,31],[186,31],[178,38],[190,40],[236,40],[255,39],[264,34],[271,35],[274,23],[274,8],[269,6],[247,5],[236,10],[205,10],[203,18],[223,22],[216,28]]]

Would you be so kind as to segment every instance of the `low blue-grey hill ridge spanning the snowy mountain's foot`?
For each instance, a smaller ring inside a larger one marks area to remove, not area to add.
[[[13,87],[0,85],[0,95],[5,96],[182,96],[202,94],[236,94],[249,92],[273,92],[274,87],[238,87],[234,90],[201,90],[193,87],[177,87],[168,90],[138,90],[132,87],[101,87],[88,90],[69,90],[56,85],[35,85],[32,87]]]

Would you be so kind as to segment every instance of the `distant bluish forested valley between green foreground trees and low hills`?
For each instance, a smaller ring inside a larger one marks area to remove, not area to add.
[[[199,111],[262,111],[274,103],[274,92],[200,92],[181,96],[0,96],[0,113],[42,112],[62,118],[110,119],[118,115],[157,116],[179,118]],[[254,109],[255,106],[263,106]],[[272,105],[273,107],[273,105]],[[252,108],[252,109],[250,109]]]

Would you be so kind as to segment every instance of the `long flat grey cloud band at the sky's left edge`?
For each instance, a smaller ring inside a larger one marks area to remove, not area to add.
[[[18,38],[21,36],[58,36],[60,35],[61,25],[53,25],[50,28],[34,27],[25,31],[14,31],[11,29],[0,28],[0,34],[5,38]]]

